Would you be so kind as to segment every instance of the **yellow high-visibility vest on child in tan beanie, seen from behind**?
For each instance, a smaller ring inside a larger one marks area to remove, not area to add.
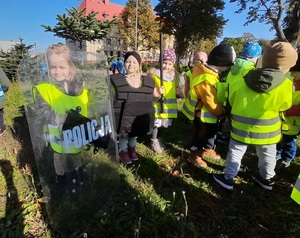
[[[288,78],[267,93],[257,93],[244,80],[229,84],[231,137],[253,145],[269,145],[281,139],[280,112],[292,104],[293,84]]]

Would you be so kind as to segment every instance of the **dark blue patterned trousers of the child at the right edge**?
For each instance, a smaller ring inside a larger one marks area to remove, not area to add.
[[[282,135],[282,140],[277,144],[278,159],[289,163],[295,157],[297,153],[297,135]]]

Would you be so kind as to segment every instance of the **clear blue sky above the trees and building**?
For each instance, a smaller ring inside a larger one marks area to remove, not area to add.
[[[19,38],[22,38],[24,44],[35,45],[37,49],[47,48],[53,43],[64,43],[64,39],[55,37],[52,32],[45,32],[41,24],[54,27],[57,23],[57,14],[62,15],[67,12],[66,9],[77,8],[81,2],[82,0],[3,0],[0,40],[19,41]],[[111,2],[125,5],[127,0],[111,0]],[[153,6],[158,2],[152,0]],[[259,39],[274,38],[275,32],[270,32],[270,26],[265,24],[251,23],[245,27],[243,24],[246,21],[246,14],[234,14],[238,9],[237,5],[229,3],[229,0],[225,2],[223,14],[228,22],[224,27],[222,38],[240,37],[248,32]]]

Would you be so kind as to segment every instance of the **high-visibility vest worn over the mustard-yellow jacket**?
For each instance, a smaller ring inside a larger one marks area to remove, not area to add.
[[[219,82],[219,79],[209,73],[200,74],[197,77],[193,79],[193,85],[191,86],[190,92],[188,96],[185,98],[183,107],[182,107],[182,113],[189,119],[193,120],[195,118],[195,108],[198,103],[201,103],[201,101],[198,101],[194,86],[197,84],[200,84],[204,81],[208,81],[211,85],[215,85],[217,82]],[[216,123],[218,121],[218,117],[212,114],[206,106],[201,106],[201,112],[200,112],[200,119],[202,122],[206,123]]]

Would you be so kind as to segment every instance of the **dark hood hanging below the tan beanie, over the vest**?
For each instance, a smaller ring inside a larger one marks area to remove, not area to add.
[[[278,69],[253,69],[245,76],[245,83],[258,93],[267,93],[284,82],[286,76]]]

